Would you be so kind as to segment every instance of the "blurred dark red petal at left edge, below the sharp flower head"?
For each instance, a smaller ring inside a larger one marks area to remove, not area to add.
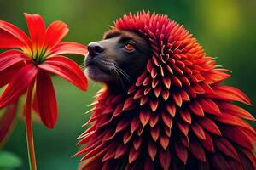
[[[0,117],[0,145],[8,135],[9,130],[15,120],[15,114],[17,111],[17,103],[11,104],[7,107],[3,116]]]

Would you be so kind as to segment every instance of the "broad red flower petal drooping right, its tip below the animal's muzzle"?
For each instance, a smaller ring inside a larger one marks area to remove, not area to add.
[[[63,56],[50,57],[44,60],[44,63],[38,65],[39,68],[55,73],[72,82],[75,86],[82,90],[87,89],[87,79],[84,72],[73,60]]]

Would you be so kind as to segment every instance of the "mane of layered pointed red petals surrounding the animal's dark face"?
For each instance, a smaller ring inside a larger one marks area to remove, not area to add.
[[[97,95],[75,155],[84,156],[81,169],[256,168],[256,133],[244,121],[255,119],[233,103],[251,101],[220,85],[230,71],[166,15],[125,15],[114,29],[139,33],[153,56],[126,94]]]

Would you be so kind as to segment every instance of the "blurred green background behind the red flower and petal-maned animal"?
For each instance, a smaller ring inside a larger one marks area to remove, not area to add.
[[[242,89],[256,103],[255,0],[9,0],[0,1],[0,7],[0,20],[7,20],[24,30],[24,12],[41,14],[47,24],[63,20],[70,29],[65,39],[84,44],[100,40],[108,26],[113,25],[113,20],[130,11],[144,9],[168,14],[193,33],[209,56],[218,57],[218,65],[233,71],[233,76],[225,83]],[[80,56],[73,59],[79,65],[83,61]],[[84,131],[81,125],[89,118],[84,115],[88,110],[86,105],[101,85],[90,82],[90,88],[84,93],[59,77],[53,79],[59,122],[54,130],[34,123],[38,169],[73,170],[79,162],[79,158],[71,158],[78,150],[76,138]],[[246,108],[255,116],[255,106]],[[3,150],[21,158],[22,165],[15,169],[29,169],[24,122],[18,124]]]

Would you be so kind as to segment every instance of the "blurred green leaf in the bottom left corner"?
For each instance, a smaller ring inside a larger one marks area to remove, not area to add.
[[[0,170],[2,169],[13,169],[15,167],[20,167],[22,164],[20,158],[15,156],[15,154],[7,152],[7,151],[0,151]]]

